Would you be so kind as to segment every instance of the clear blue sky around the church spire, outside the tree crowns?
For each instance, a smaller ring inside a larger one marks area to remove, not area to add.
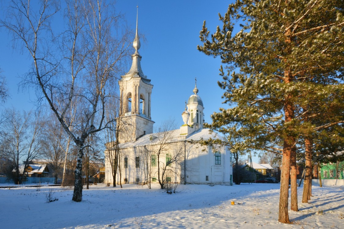
[[[5,9],[6,2],[0,3],[2,9]],[[223,90],[217,85],[217,81],[222,79],[218,75],[221,60],[206,56],[196,47],[201,44],[199,32],[203,21],[206,20],[208,29],[214,32],[217,25],[222,26],[218,13],[224,15],[230,2],[117,1],[117,10],[125,14],[133,31],[136,28],[136,6],[139,5],[139,34],[146,38],[144,41],[141,39],[139,53],[142,56],[143,73],[154,85],[151,104],[154,128],[169,118],[174,118],[177,126],[183,124],[181,114],[185,100],[193,94],[195,77],[198,95],[204,104],[205,122],[211,122],[210,115],[217,112],[219,107],[228,107],[222,104]],[[30,100],[35,100],[35,94],[18,91],[19,76],[28,71],[30,61],[18,48],[13,49],[10,41],[7,31],[1,29],[0,68],[7,79],[11,96],[4,107],[30,110],[34,108]],[[129,68],[130,64],[125,71]]]

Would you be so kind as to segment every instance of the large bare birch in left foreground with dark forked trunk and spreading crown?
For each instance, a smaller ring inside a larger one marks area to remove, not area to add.
[[[59,20],[58,1],[12,0],[8,17],[0,21],[32,59],[32,69],[23,84],[35,86],[62,128],[75,143],[77,165],[72,200],[82,201],[82,160],[85,140],[104,129],[108,88],[117,80],[128,55],[129,32],[114,4],[96,0],[67,0],[65,28],[56,32],[51,23]],[[74,100],[78,105],[73,131],[65,116]]]

